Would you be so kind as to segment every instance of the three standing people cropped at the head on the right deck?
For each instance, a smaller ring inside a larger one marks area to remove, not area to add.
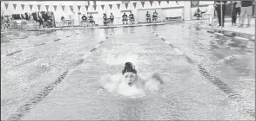
[[[215,10],[219,20],[219,27],[224,27],[225,14],[226,14],[227,1],[216,1],[214,4]],[[221,5],[222,5],[222,17],[221,17]],[[251,16],[253,14],[253,1],[232,1],[232,25],[236,25],[237,16],[240,18],[239,28],[244,27],[244,22],[247,16],[247,26],[250,27]],[[240,16],[241,15],[241,16]],[[222,18],[222,19],[221,19]]]

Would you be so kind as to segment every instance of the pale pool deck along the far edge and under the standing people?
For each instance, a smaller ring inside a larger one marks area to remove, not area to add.
[[[216,19],[214,21],[217,21]],[[152,22],[152,23],[137,23],[137,24],[128,24],[128,25],[109,25],[109,26],[89,26],[89,27],[64,27],[64,28],[51,28],[51,29],[26,29],[27,31],[44,31],[44,30],[69,30],[69,29],[111,29],[111,28],[127,28],[127,27],[140,27],[140,26],[154,26],[154,25],[165,25],[168,23],[174,22],[185,22],[188,24],[197,24],[199,23],[199,29],[204,29],[209,33],[215,33],[218,35],[226,35],[232,37],[239,37],[243,40],[255,41],[255,18],[251,20],[251,26],[249,28],[243,27],[239,28],[237,26],[232,26],[231,18],[226,18],[225,27],[217,28],[216,25],[209,26],[201,20],[191,20],[191,21],[172,21],[172,22]],[[245,21],[246,24],[247,20]],[[1,32],[2,33],[2,32]],[[3,32],[4,33],[4,32]]]

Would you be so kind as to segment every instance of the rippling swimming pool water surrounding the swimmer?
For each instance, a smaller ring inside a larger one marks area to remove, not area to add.
[[[253,119],[253,41],[175,23],[45,32],[1,46],[1,119]],[[121,73],[126,60],[138,73],[165,74],[165,91],[98,92],[100,76]]]

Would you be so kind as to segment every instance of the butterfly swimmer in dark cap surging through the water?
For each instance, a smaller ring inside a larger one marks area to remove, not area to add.
[[[107,80],[102,79],[100,83],[109,92],[117,91],[123,95],[134,95],[144,94],[146,90],[157,91],[159,86],[164,84],[164,81],[158,73],[151,73],[147,78],[142,78],[138,75],[133,64],[126,62],[122,75],[111,75]]]

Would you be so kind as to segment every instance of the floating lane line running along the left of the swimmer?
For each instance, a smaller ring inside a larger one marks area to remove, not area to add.
[[[115,31],[114,31],[115,32]],[[113,32],[113,33],[114,33]],[[111,34],[112,35],[112,34]],[[107,38],[106,38],[107,39]],[[106,41],[106,40],[104,40]],[[100,41],[100,43],[103,43],[103,41]],[[94,49],[96,50],[99,47],[100,44],[97,44]],[[44,98],[47,97],[47,95],[62,81],[67,79],[73,73],[76,68],[82,64],[89,55],[91,55],[92,52],[85,54],[80,60],[76,62],[76,67],[72,69],[65,69],[64,73],[62,73],[57,80],[50,83],[50,85],[45,86],[43,90],[41,90],[39,93],[36,94],[32,99],[30,99],[28,102],[26,102],[24,105],[21,105],[17,111],[14,114],[10,115],[10,118],[7,120],[21,120],[35,105],[37,105],[39,102],[41,102]]]

